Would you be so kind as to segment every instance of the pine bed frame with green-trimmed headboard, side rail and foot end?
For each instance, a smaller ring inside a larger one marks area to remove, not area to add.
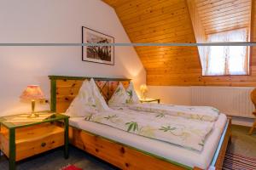
[[[63,77],[49,76],[51,84],[51,111],[65,112],[85,79],[90,77]],[[130,79],[126,78],[100,78],[94,77],[103,97],[108,102],[119,82],[128,87]],[[218,144],[218,149],[212,159],[212,169],[222,169],[225,152],[231,136],[231,121],[226,123],[224,133]],[[91,155],[108,161],[121,169],[201,169],[188,167],[166,158],[155,156],[146,151],[139,150],[126,144],[107,139],[94,133],[87,132],[77,127],[69,127],[70,143]]]

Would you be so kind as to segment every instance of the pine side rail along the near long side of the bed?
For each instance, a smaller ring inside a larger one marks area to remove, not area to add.
[[[108,161],[121,169],[193,169],[177,162],[167,161],[162,157],[150,155],[125,144],[117,143],[111,139],[88,133],[76,127],[69,127],[69,139],[70,143],[79,149],[99,157],[103,161]],[[194,169],[199,170],[200,168]]]

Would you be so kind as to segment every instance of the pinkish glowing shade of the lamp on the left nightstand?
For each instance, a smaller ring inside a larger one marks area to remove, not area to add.
[[[44,99],[44,93],[38,85],[29,85],[20,95],[20,99]]]

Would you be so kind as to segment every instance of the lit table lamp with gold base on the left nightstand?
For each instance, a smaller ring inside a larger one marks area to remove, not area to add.
[[[29,85],[26,87],[24,92],[20,95],[20,99],[30,99],[32,102],[32,112],[29,118],[38,117],[35,113],[36,99],[44,99],[44,93],[38,85]]]

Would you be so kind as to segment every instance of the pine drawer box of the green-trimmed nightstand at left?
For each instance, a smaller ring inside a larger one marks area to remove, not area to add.
[[[9,157],[9,130],[1,127],[1,150]],[[64,129],[44,123],[16,129],[16,161],[64,145]]]

